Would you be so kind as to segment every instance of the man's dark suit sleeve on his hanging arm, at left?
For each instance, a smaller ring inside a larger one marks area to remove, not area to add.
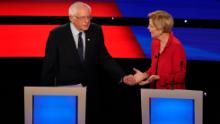
[[[54,32],[50,32],[45,57],[42,65],[41,83],[42,85],[53,85],[55,81],[56,63],[57,63],[57,41]]]

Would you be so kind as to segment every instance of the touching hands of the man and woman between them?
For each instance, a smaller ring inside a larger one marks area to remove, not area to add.
[[[140,70],[133,68],[135,73],[124,76],[123,82],[127,85],[145,85],[149,84],[155,80],[159,80],[159,75],[151,75],[150,77],[145,72],[141,72]]]

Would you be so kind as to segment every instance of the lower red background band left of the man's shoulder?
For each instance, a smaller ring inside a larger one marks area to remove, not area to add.
[[[56,25],[0,25],[0,57],[43,57],[45,42]]]

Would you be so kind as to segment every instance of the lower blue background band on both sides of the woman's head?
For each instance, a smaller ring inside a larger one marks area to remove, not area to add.
[[[147,26],[132,26],[132,31],[146,56],[151,56]],[[220,61],[220,29],[174,28],[173,33],[183,44],[187,60]]]

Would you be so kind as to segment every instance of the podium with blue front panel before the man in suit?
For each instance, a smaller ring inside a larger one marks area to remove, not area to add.
[[[86,88],[24,87],[25,124],[85,124]]]

